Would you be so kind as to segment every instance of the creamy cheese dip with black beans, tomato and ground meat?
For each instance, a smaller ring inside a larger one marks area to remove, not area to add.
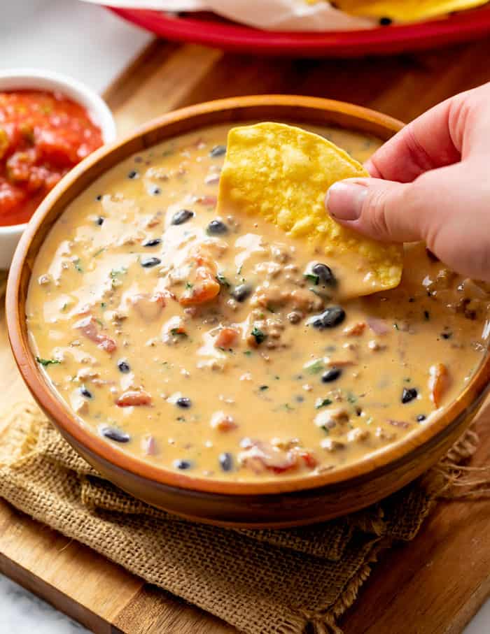
[[[360,161],[380,145],[314,131]],[[221,480],[307,477],[430,424],[482,359],[488,296],[409,245],[398,288],[349,299],[335,253],[218,217],[227,132],[130,157],[59,218],[27,300],[52,389],[123,452]]]

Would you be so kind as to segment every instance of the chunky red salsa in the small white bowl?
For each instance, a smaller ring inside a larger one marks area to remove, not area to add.
[[[27,222],[50,189],[102,145],[87,110],[58,92],[0,92],[0,225]]]

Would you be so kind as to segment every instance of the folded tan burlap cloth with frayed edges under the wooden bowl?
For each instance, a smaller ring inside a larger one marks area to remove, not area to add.
[[[379,550],[412,540],[470,431],[423,478],[348,517],[283,531],[215,528],[173,517],[102,479],[31,403],[3,417],[0,496],[147,582],[250,634],[339,632]]]

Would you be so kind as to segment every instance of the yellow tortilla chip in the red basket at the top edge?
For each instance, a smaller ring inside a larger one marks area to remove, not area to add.
[[[488,0],[337,0],[337,8],[362,17],[417,22],[486,4]]]

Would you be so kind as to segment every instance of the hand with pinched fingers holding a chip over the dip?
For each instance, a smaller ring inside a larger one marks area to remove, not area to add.
[[[428,110],[366,168],[373,178],[328,190],[337,222],[378,240],[424,240],[457,273],[490,281],[490,83]]]

